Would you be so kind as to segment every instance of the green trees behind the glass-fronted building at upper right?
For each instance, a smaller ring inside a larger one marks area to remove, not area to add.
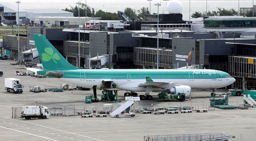
[[[207,12],[207,16],[217,16],[218,13],[220,14],[220,16],[234,16],[234,15],[238,15],[238,11],[235,11],[233,8],[231,8],[230,10],[227,10],[225,8],[217,8],[217,11],[208,11]],[[242,12],[240,12],[241,14]],[[201,12],[195,12],[191,15],[192,18],[199,18],[199,17],[203,17],[206,16],[206,14],[203,14]],[[252,17],[252,10],[246,11],[245,13],[243,13],[243,16],[248,16],[248,17]]]

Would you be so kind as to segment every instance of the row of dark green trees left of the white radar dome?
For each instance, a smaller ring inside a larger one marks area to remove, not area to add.
[[[64,11],[73,12],[74,16],[78,16],[78,6],[75,7],[70,6],[70,8],[63,9]],[[85,12],[86,10],[86,12]],[[94,8],[91,8],[89,5],[85,5],[82,3],[79,7],[80,16],[89,16],[89,17],[100,17],[102,20],[121,20],[120,13],[123,12],[126,16],[129,17],[129,19],[146,19],[146,14],[149,13],[148,7],[142,7],[140,10],[135,10],[132,8],[125,8],[124,11],[117,11],[116,12],[105,12],[102,10],[95,11]]]

